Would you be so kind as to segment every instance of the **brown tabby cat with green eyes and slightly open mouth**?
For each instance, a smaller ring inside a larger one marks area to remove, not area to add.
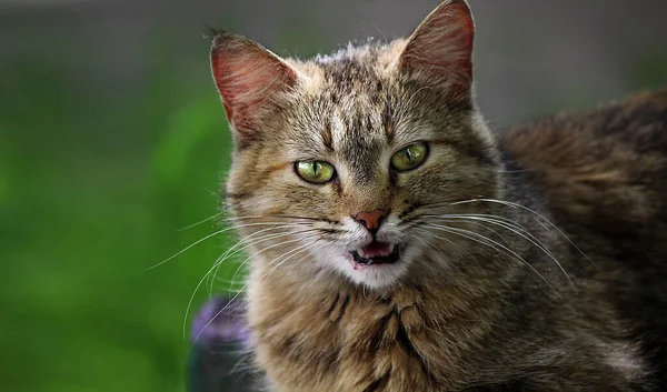
[[[494,134],[464,0],[407,39],[211,68],[278,392],[667,389],[667,89]]]

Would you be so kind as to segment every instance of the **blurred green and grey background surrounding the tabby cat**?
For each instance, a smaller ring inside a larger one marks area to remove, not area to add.
[[[409,34],[437,0],[0,0],[0,391],[183,391],[230,138],[206,26],[281,56]],[[470,0],[497,128],[667,84],[667,2]],[[381,32],[380,32],[381,31]],[[213,292],[240,289],[220,271]]]

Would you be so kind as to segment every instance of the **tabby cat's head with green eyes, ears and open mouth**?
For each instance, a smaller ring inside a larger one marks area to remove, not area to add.
[[[308,264],[384,288],[416,264],[447,263],[454,250],[428,217],[499,189],[471,97],[472,38],[462,0],[406,40],[309,61],[216,37],[212,71],[236,145],[228,204],[267,274]]]

